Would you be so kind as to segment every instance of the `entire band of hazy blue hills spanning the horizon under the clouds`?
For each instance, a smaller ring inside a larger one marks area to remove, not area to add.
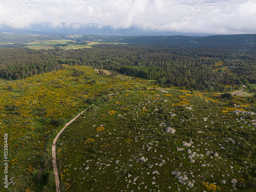
[[[44,35],[42,35],[44,34]],[[0,42],[28,43],[35,40],[70,39],[75,41],[122,42],[136,46],[164,46],[170,48],[212,48],[256,50],[256,34],[211,35],[211,36],[108,36],[108,35],[63,35],[47,32],[30,32],[28,34],[1,33]]]

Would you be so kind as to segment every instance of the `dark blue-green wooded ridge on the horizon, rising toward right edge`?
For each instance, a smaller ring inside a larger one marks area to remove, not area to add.
[[[256,50],[256,34],[212,36],[82,36],[78,41],[123,42],[131,45]]]

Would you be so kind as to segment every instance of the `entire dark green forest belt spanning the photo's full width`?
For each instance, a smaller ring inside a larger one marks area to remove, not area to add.
[[[61,69],[60,64],[86,65],[157,80],[166,86],[224,91],[228,85],[256,83],[256,53],[238,55],[224,49],[99,45],[91,49],[1,49],[0,77],[18,79]],[[74,72],[74,76],[80,74]]]

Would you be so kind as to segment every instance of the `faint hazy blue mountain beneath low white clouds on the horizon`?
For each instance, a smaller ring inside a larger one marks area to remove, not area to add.
[[[170,36],[170,35],[187,35],[187,36],[206,36],[209,34],[195,34],[195,33],[179,33],[170,31],[159,30],[146,30],[136,27],[129,29],[113,29],[110,26],[100,26],[98,24],[91,23],[74,23],[65,24],[61,26],[53,27],[50,23],[34,24],[26,29],[13,29],[6,26],[0,26],[0,32],[11,32],[18,34],[36,34],[36,35],[111,35],[111,36],[138,36],[138,35],[150,35],[150,36]]]

